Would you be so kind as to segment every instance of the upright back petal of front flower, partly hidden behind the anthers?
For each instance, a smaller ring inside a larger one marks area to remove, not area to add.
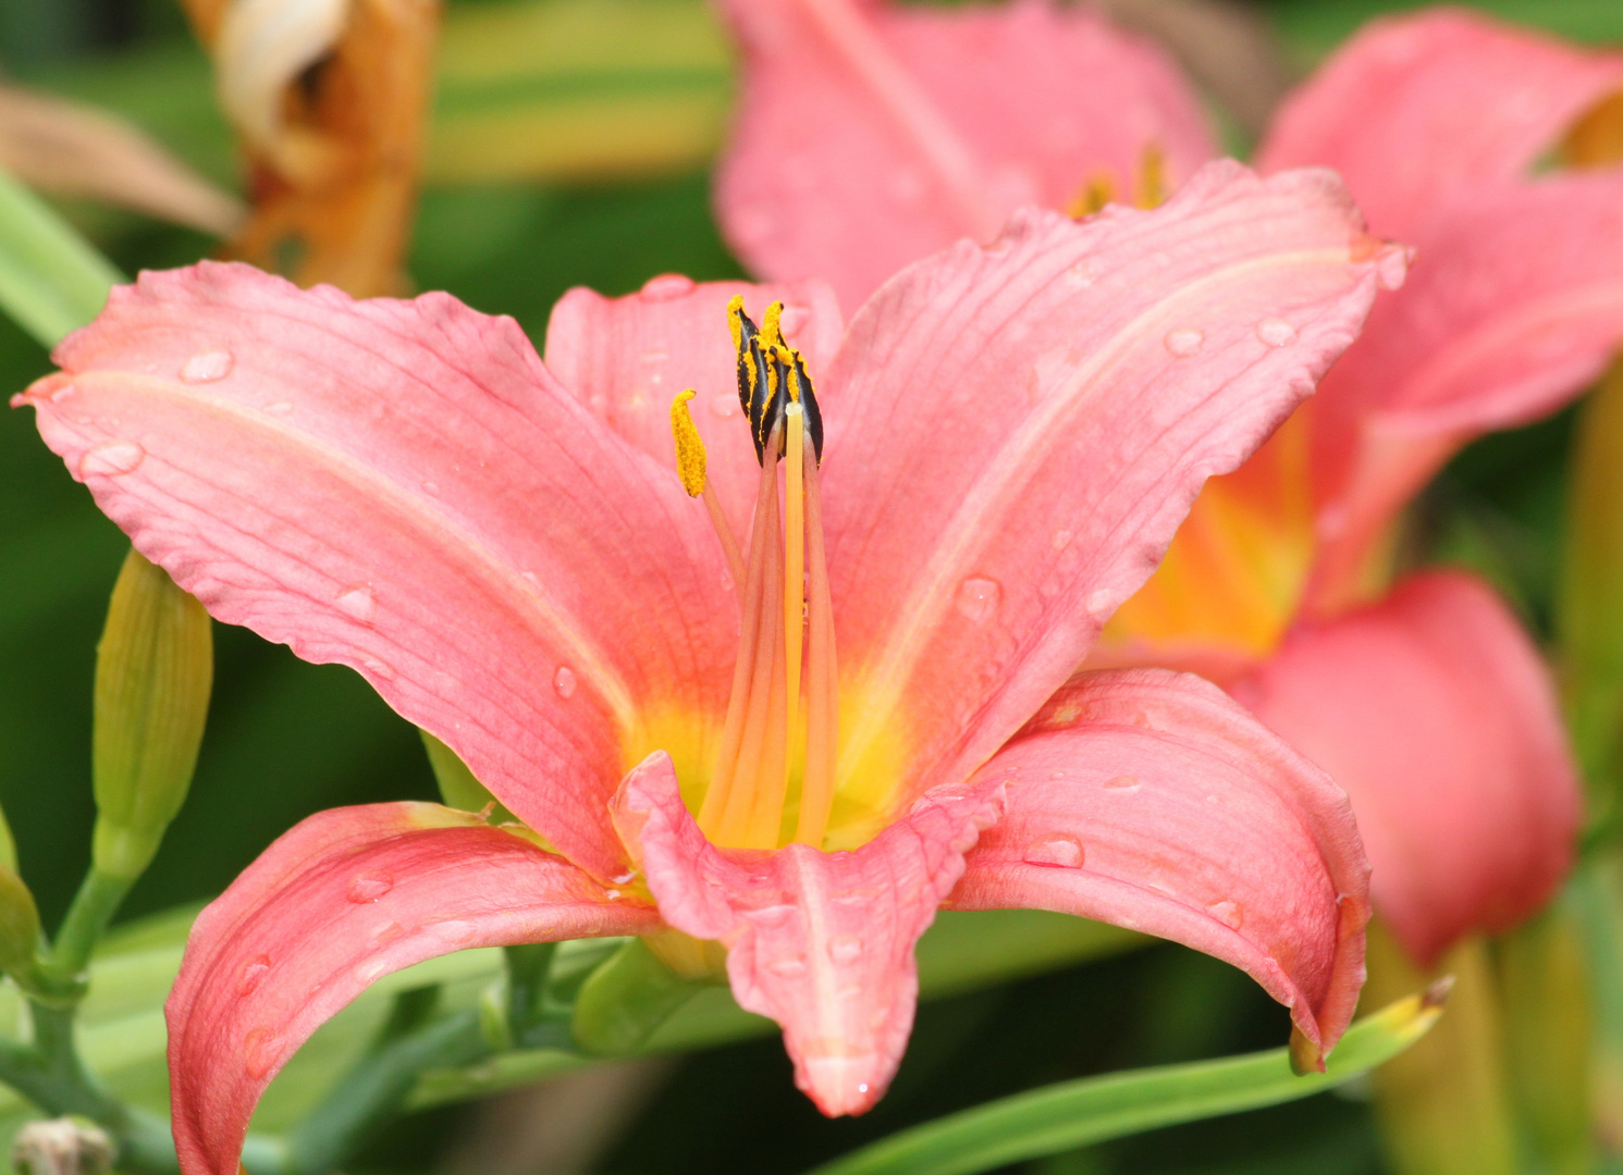
[[[547,323],[547,367],[573,388],[610,428],[667,466],[675,477],[670,401],[685,388],[704,438],[709,480],[727,506],[734,531],[748,534],[760,466],[738,407],[737,360],[727,326],[735,294],[760,321],[769,302],[784,302],[784,336],[813,373],[826,372],[839,347],[841,318],[823,282],[750,286],[740,281],[696,286],[664,274],[639,294],[605,299],[571,289]]]

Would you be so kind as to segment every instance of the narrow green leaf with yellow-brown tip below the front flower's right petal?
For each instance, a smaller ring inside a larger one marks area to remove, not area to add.
[[[1290,1050],[1272,1048],[1066,1081],[904,1130],[810,1175],[972,1175],[1156,1126],[1290,1102],[1401,1053],[1436,1022],[1444,996],[1446,988],[1428,988],[1358,1021],[1326,1073],[1298,1078]]]

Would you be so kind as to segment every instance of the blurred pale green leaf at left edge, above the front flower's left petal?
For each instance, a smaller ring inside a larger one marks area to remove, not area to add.
[[[97,313],[123,276],[52,208],[0,172],[0,307],[47,347]]]

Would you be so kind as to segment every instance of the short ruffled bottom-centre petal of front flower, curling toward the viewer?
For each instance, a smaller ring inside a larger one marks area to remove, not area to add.
[[[784,1027],[795,1084],[829,1117],[889,1086],[919,996],[914,943],[998,818],[1001,787],[943,787],[855,852],[717,849],[682,807],[669,756],[617,800],[661,917],[727,949],[738,1005]]]

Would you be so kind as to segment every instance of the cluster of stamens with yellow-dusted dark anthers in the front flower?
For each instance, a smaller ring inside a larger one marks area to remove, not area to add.
[[[837,664],[823,545],[823,415],[805,359],[782,336],[782,303],[760,326],[727,305],[738,402],[761,466],[745,552],[704,477],[704,446],[670,406],[677,467],[703,498],[738,589],[738,659],[698,823],[719,846],[821,847],[834,802]]]

